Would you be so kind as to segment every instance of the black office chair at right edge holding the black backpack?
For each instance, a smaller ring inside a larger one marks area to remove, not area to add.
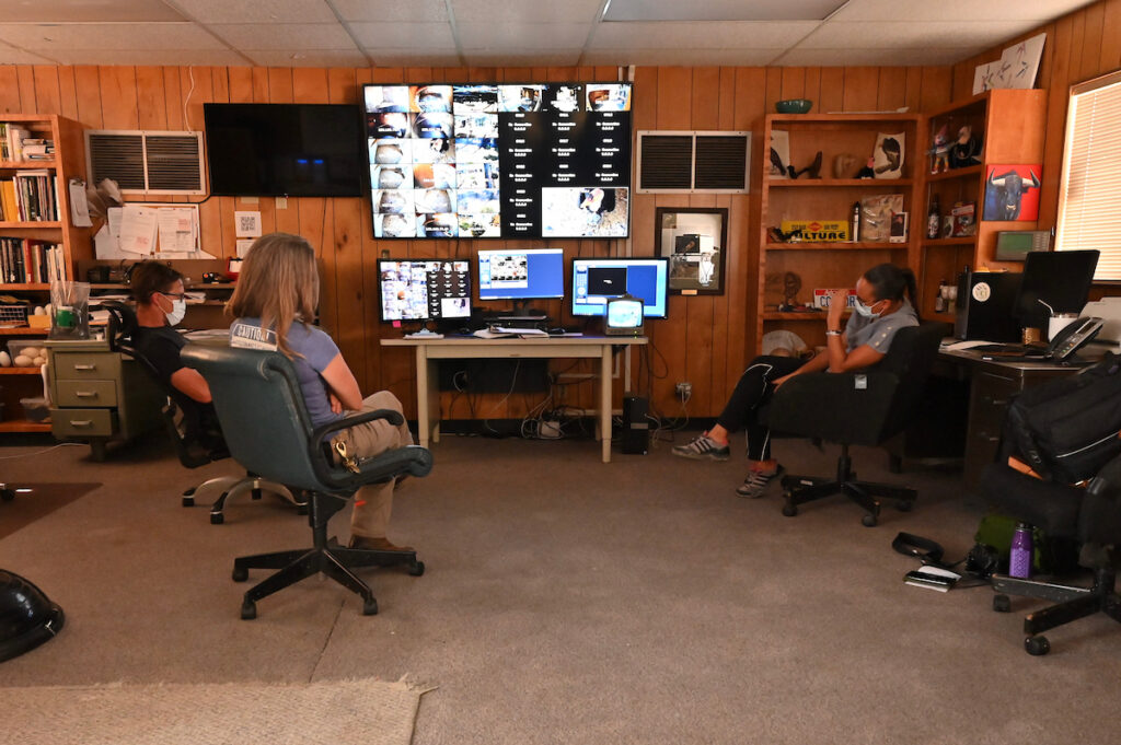
[[[1104,613],[1121,622],[1121,596],[1115,589],[1117,556],[1121,542],[1121,456],[1099,471],[1086,488],[1041,481],[1002,464],[985,466],[979,490],[1001,513],[1040,528],[1048,538],[1081,544],[1078,564],[1093,570],[1086,587],[1058,585],[1007,575],[992,576],[993,609],[1008,613],[1009,595],[1053,600],[1023,620],[1023,648],[1028,654],[1050,651],[1044,632],[1078,618]]]

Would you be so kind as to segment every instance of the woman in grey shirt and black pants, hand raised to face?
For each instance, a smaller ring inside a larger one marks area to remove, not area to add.
[[[910,296],[910,301],[904,294]],[[683,458],[728,460],[728,436],[741,428],[748,435],[748,477],[735,490],[740,496],[759,497],[784,468],[770,454],[770,431],[758,420],[760,407],[795,375],[808,372],[849,372],[871,367],[888,353],[896,332],[918,325],[915,311],[915,274],[910,269],[882,263],[856,280],[855,313],[841,328],[847,292],[834,291],[825,316],[826,350],[808,362],[793,357],[756,357],[740,376],[716,425],[687,445],[674,448]]]

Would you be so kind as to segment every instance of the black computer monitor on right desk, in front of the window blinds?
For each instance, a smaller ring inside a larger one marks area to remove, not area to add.
[[[1020,326],[1047,328],[1051,313],[1081,313],[1096,267],[1097,251],[1028,253],[1023,257],[1023,279],[1012,315]]]

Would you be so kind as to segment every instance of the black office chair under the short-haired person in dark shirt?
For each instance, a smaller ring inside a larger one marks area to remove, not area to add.
[[[213,422],[205,421],[201,407],[170,385],[159,374],[151,361],[132,345],[132,334],[137,329],[137,316],[132,307],[119,300],[105,300],[101,302],[101,307],[109,311],[109,325],[105,333],[109,348],[136,360],[167,397],[161,413],[179,463],[185,468],[198,468],[209,463],[229,458],[230,451],[225,447],[222,434],[217,431]],[[277,494],[291,502],[299,514],[307,514],[306,501],[297,499],[281,484],[267,482],[252,473],[247,473],[244,476],[217,476],[196,484],[183,492],[183,506],[194,506],[195,494],[211,488],[222,490],[217,500],[211,505],[210,519],[213,525],[221,525],[225,522],[226,501],[244,492],[249,492],[253,500],[261,499],[263,492]]]

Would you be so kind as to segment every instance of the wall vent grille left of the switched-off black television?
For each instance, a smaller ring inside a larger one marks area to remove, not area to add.
[[[86,130],[90,180],[123,194],[205,194],[202,132]]]

